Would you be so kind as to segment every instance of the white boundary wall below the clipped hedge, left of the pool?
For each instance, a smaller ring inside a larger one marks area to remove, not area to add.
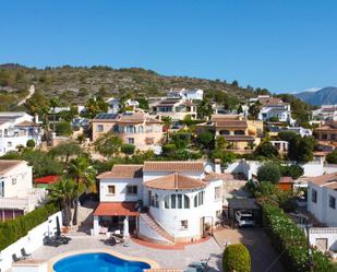
[[[32,253],[44,245],[44,237],[53,235],[57,230],[57,217],[62,226],[62,213],[57,212],[48,217],[48,221],[34,227],[25,237],[22,237],[11,246],[0,252],[0,271],[7,271],[12,267],[12,255],[21,257],[21,249],[25,248],[27,253]]]

